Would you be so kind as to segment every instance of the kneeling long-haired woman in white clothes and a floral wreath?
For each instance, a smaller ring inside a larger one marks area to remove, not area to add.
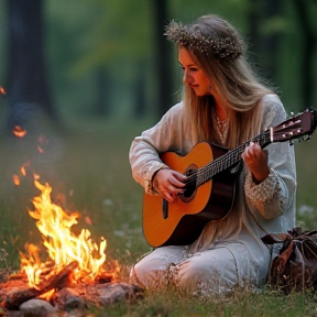
[[[286,116],[278,97],[252,73],[245,45],[226,20],[205,15],[188,25],[171,22],[165,35],[177,44],[183,100],[134,139],[130,163],[147,194],[176,204],[187,177],[168,168],[161,153],[186,155],[201,141],[236,149]],[[241,156],[229,215],[209,221],[189,245],[161,247],[146,254],[132,267],[131,283],[200,295],[265,283],[272,256],[261,237],[294,227],[294,150],[287,142],[265,150],[250,142]]]

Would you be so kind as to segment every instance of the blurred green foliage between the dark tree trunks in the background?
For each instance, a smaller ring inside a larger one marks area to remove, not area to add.
[[[270,1],[264,0],[197,0],[195,4],[189,0],[170,0],[167,9],[170,19],[184,22],[189,22],[205,13],[223,15],[249,40],[250,13],[254,6],[258,6],[261,9],[259,9],[261,13],[259,41],[265,43],[267,36],[278,35],[278,50],[272,54],[270,47],[264,45],[264,50],[254,52],[255,47],[253,43],[250,43],[250,51],[253,56],[256,56],[259,64],[263,65],[263,73],[276,83],[286,109],[299,111],[303,110],[303,100],[298,91],[300,87],[298,75],[302,70],[299,61],[304,43],[302,43],[303,36],[300,36],[300,25],[298,25],[294,1],[280,0],[281,12],[271,15],[265,13],[267,10],[265,6]],[[47,70],[53,99],[62,119],[72,116],[73,112],[80,112],[84,116],[97,113],[96,103],[99,94],[97,74],[100,69],[103,69],[108,76],[105,94],[110,95],[108,101],[111,103],[112,116],[129,118],[136,94],[135,83],[140,81],[140,77],[143,77],[143,80],[139,85],[144,85],[144,90],[146,90],[149,105],[146,111],[153,112],[156,107],[155,79],[157,77],[154,68],[155,45],[153,42],[155,12],[153,12],[152,1],[134,2],[129,0],[44,0]],[[310,14],[310,24],[316,24],[315,1],[307,0],[303,2],[303,6],[304,3]],[[1,65],[7,64],[6,23],[8,15],[6,11],[6,1],[0,1],[0,42],[4,44],[0,46]],[[272,61],[275,61],[277,65],[276,73],[273,73],[270,66],[265,68],[272,64]],[[140,72],[140,63],[143,63],[145,72]],[[174,65],[177,66],[176,59]],[[6,72],[6,67],[0,67],[2,86],[6,86],[8,75]],[[175,73],[175,81],[178,88],[181,84],[178,73]],[[316,94],[315,91],[314,100],[317,98]]]

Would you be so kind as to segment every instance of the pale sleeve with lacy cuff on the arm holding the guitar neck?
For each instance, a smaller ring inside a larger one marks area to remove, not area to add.
[[[264,125],[275,127],[286,118],[285,110],[277,97],[263,100]],[[247,171],[244,192],[248,205],[252,205],[265,219],[280,216],[294,201],[296,190],[296,166],[293,146],[287,142],[276,142],[267,147],[270,174],[260,184],[253,182]],[[251,206],[250,206],[251,207]]]

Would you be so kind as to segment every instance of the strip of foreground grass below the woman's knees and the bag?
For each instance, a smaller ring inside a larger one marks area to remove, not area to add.
[[[176,304],[177,303],[177,304]],[[254,293],[237,288],[226,296],[210,298],[190,297],[168,292],[146,294],[146,297],[133,305],[117,305],[116,309],[97,309],[95,316],[173,316],[173,317],[243,317],[243,316],[315,316],[316,297],[310,294],[285,296],[274,289],[265,288]]]

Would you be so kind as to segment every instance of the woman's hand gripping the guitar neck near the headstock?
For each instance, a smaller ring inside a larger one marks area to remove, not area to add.
[[[242,158],[256,183],[263,182],[269,176],[267,152],[258,143],[250,142],[242,153]]]

